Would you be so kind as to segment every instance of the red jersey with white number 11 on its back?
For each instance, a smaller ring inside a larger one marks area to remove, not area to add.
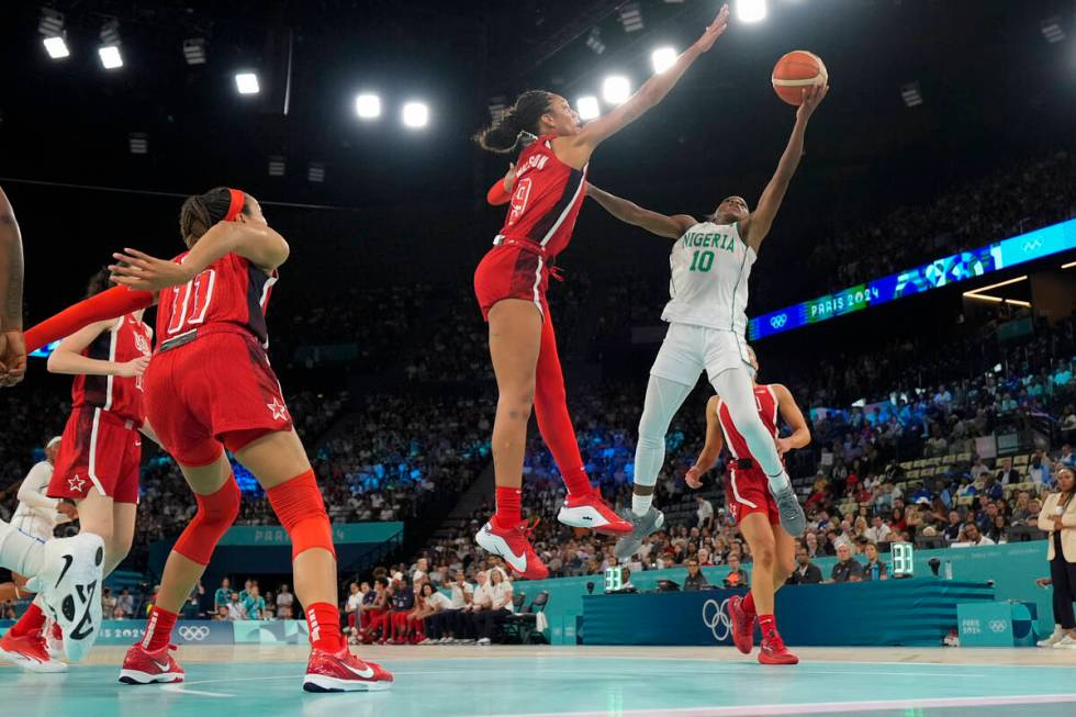
[[[176,257],[181,262],[187,253]],[[272,276],[237,254],[227,254],[184,284],[169,287],[157,300],[161,343],[203,327],[249,334],[269,345],[266,307],[277,283]]]

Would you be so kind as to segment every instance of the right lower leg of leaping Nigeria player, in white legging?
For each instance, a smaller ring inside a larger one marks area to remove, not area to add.
[[[788,473],[781,462],[781,456],[773,442],[773,436],[766,430],[751,390],[751,374],[746,366],[721,371],[710,381],[717,394],[729,410],[732,425],[743,436],[751,450],[751,457],[759,462],[770,482],[770,493],[777,504],[781,525],[788,535],[795,537],[804,534],[807,517],[796,497]]]

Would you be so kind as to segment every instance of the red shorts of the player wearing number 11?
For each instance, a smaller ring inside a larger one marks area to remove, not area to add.
[[[182,466],[212,463],[221,456],[221,444],[234,452],[292,427],[269,358],[246,334],[203,333],[159,351],[144,384],[149,424]]]

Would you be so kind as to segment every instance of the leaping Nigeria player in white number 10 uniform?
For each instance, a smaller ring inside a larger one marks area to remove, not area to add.
[[[670,301],[661,314],[669,332],[661,345],[647,386],[635,455],[635,488],[630,517],[634,530],[616,545],[619,560],[628,560],[643,538],[664,523],[653,507],[653,488],[665,460],[665,433],[687,394],[705,370],[728,406],[737,432],[765,472],[777,503],[781,525],[789,535],[804,531],[806,519],[788,480],[773,436],[759,417],[752,392],[753,370],[747,354],[748,278],[762,240],[770,233],[788,182],[799,166],[804,133],[828,87],[804,90],[796,124],[777,171],[753,212],[740,197],[724,200],[713,215],[698,222],[686,214],[665,216],[589,187],[591,198],[628,224],[675,239],[669,265]]]

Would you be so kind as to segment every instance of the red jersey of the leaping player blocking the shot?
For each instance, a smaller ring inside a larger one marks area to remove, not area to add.
[[[586,198],[586,167],[572,169],[553,154],[553,136],[538,137],[516,160],[516,183],[501,237],[533,242],[549,257],[572,239]]]

